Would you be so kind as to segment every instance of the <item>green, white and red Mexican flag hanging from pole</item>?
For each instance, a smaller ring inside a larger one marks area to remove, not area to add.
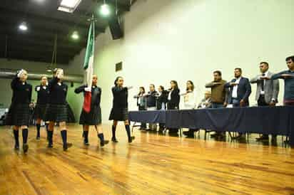
[[[86,48],[86,56],[83,62],[83,69],[86,71],[86,84],[92,88],[93,63],[94,63],[94,48],[95,48],[95,21],[91,20],[91,25],[88,30],[88,41]],[[91,92],[86,91],[83,99],[83,110],[85,112],[91,111]]]

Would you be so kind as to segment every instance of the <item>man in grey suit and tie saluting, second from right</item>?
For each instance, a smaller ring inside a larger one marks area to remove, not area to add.
[[[275,106],[278,102],[279,81],[270,80],[273,73],[268,71],[269,65],[267,62],[261,62],[259,68],[261,74],[250,80],[250,83],[257,84],[255,100],[258,102],[258,106]],[[276,135],[273,135],[273,140],[275,139]],[[268,141],[268,135],[263,134],[257,140]]]

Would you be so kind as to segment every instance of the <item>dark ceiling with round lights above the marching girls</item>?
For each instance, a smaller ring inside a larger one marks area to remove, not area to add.
[[[61,0],[1,0],[0,58],[51,63],[57,35],[57,63],[68,64],[86,46],[88,19],[96,17],[96,36],[104,33],[108,18],[98,14],[103,0],[82,0],[73,14],[58,11]],[[106,0],[118,14],[130,11],[134,0]],[[115,11],[112,11],[115,13]],[[28,31],[20,31],[26,21]],[[78,31],[74,41],[71,33]]]

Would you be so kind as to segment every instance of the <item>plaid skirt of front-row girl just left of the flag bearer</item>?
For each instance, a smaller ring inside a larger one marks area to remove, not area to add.
[[[44,120],[54,122],[67,122],[68,115],[66,105],[46,105]]]

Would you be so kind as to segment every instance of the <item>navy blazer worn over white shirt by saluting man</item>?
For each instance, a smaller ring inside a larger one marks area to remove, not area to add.
[[[231,82],[235,83],[236,79],[232,79],[229,83],[225,83],[225,88],[229,88],[230,92],[228,95],[228,104],[233,103],[233,99],[232,99],[232,93],[233,93],[233,86],[230,85]],[[238,84],[238,90],[237,90],[237,99],[240,100],[244,100],[246,105],[249,105],[249,95],[251,94],[251,85],[250,82],[248,80],[248,78],[241,78],[240,82]]]

